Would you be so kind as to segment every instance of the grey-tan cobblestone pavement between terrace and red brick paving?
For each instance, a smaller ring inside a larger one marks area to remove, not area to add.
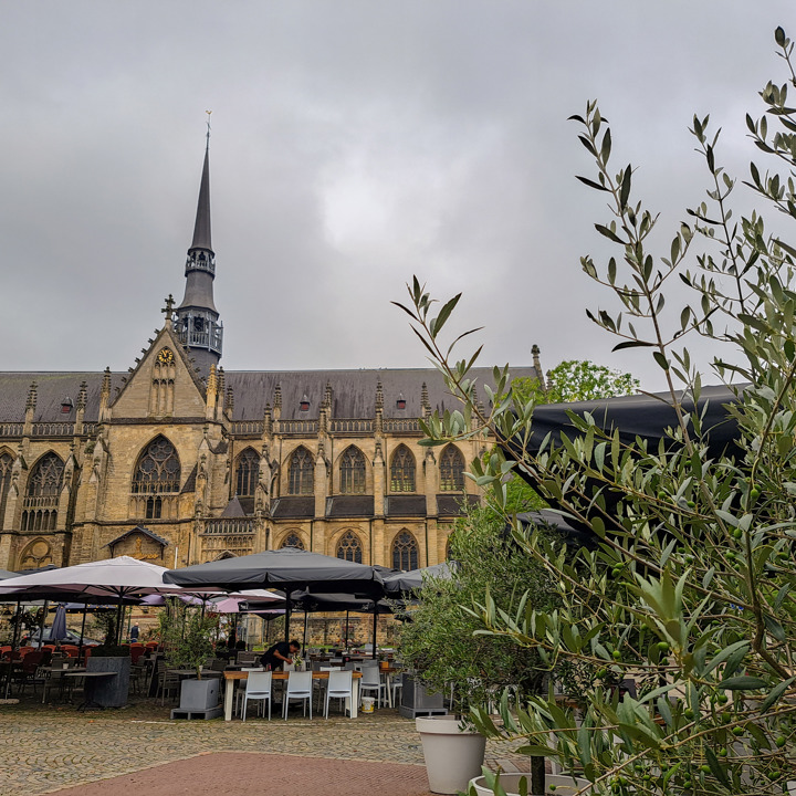
[[[415,722],[394,710],[354,721],[291,715],[287,722],[248,718],[245,723],[170,721],[169,710],[149,699],[91,713],[32,700],[0,705],[0,796],[51,793],[209,752],[423,764]],[[516,761],[504,744],[492,742],[486,756],[488,764],[504,768]]]

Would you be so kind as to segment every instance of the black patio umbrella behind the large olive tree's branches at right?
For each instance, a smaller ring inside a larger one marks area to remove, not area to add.
[[[534,409],[531,433],[527,439],[520,436],[505,440],[501,447],[506,457],[522,460],[524,455],[534,457],[538,453],[544,440],[549,437],[549,443],[561,446],[563,437],[576,439],[580,431],[573,425],[568,412],[584,417],[591,415],[598,428],[607,432],[619,432],[622,443],[633,444],[637,438],[647,442],[648,450],[657,450],[663,440],[668,449],[681,444],[672,439],[668,429],[677,427],[674,409],[667,402],[668,396],[633,395],[618,398],[606,398],[591,401],[575,401],[572,404],[545,404]],[[698,410],[702,416],[701,441],[706,443],[710,455],[737,455],[741,449],[737,446],[737,422],[727,411],[727,406],[736,404],[739,397],[727,387],[703,387],[696,406],[685,397],[683,410],[691,413]],[[537,486],[533,476],[522,470],[516,471],[531,486]],[[620,495],[604,491],[606,514],[608,517],[619,503]],[[548,499],[549,500],[549,499]],[[554,507],[558,507],[554,500],[549,500]],[[552,519],[552,517],[551,517]],[[606,519],[604,516],[604,519]],[[565,517],[565,525],[576,533],[586,533],[590,530],[574,517]],[[554,521],[559,524],[559,521]]]

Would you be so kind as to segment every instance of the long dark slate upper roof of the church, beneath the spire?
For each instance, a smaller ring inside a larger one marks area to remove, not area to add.
[[[111,400],[116,387],[127,373],[111,375]],[[492,385],[491,368],[474,368],[473,377],[480,385],[479,395],[489,406],[483,384]],[[533,367],[512,369],[512,376],[534,377]],[[332,386],[332,417],[366,419],[375,416],[376,385],[381,380],[384,390],[384,417],[417,418],[422,416],[422,385],[428,387],[432,409],[458,408],[459,402],[448,392],[442,376],[433,368],[363,368],[359,370],[226,370],[226,385],[234,392],[234,420],[261,420],[265,405],[274,406],[276,385],[282,392],[282,419],[314,419],[318,417],[326,384]],[[0,422],[22,422],[31,383],[35,381],[36,408],[34,422],[65,422],[74,420],[75,409],[69,415],[61,412],[61,401],[69,396],[77,402],[80,385],[86,383],[86,422],[96,422],[100,415],[102,371],[96,373],[0,373]],[[298,404],[306,394],[310,410],[302,412]],[[406,409],[398,409],[397,400],[404,395]]]

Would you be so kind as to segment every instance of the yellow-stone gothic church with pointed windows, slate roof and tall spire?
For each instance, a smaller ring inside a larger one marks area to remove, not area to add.
[[[285,546],[443,561],[486,437],[418,444],[419,420],[455,402],[433,369],[224,371],[210,231],[206,149],[185,296],[135,367],[0,373],[0,568]],[[513,375],[537,378],[536,354]]]

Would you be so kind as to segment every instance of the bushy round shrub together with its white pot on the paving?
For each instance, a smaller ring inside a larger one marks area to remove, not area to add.
[[[553,587],[541,567],[517,563],[505,523],[489,507],[473,509],[459,521],[451,537],[457,562],[450,579],[428,578],[418,589],[399,638],[400,654],[412,679],[405,680],[402,704],[411,701],[416,726],[433,793],[465,790],[481,774],[485,737],[470,721],[470,710],[486,705],[511,687],[517,696],[536,693],[549,670],[534,650],[490,635],[473,614],[489,591],[511,604],[532,588],[535,605],[552,609]],[[420,690],[418,690],[420,689]],[[453,715],[433,715],[451,694]],[[430,703],[422,700],[430,699]],[[431,715],[417,715],[429,713]],[[544,771],[544,761],[541,761]]]

